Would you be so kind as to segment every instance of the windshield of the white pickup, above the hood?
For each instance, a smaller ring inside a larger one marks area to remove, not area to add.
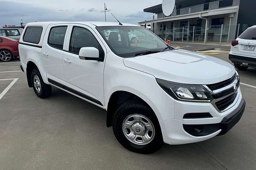
[[[111,50],[120,57],[135,57],[173,49],[143,27],[105,26],[96,29]]]

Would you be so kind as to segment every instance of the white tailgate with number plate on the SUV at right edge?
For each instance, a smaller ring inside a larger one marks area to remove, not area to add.
[[[248,28],[237,40],[239,45],[233,48],[234,54],[256,57],[256,28]]]

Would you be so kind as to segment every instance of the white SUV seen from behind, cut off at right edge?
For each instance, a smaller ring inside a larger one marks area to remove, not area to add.
[[[247,28],[232,41],[229,59],[239,70],[256,68],[256,26]]]

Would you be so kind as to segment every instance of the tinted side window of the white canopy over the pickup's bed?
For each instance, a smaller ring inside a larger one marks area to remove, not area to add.
[[[23,41],[38,44],[41,39],[42,31],[42,27],[27,27],[23,36]]]

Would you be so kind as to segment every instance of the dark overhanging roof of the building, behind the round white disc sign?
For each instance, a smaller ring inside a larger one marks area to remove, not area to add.
[[[176,9],[180,9],[180,8],[186,8],[189,6],[195,6],[195,5],[199,5],[199,4],[209,3],[209,2],[213,2],[213,1],[217,1],[217,0],[176,0],[175,5],[176,5]],[[143,11],[155,13],[155,14],[162,13],[163,12],[162,4],[159,4],[156,6],[151,6],[149,8],[145,8]]]

